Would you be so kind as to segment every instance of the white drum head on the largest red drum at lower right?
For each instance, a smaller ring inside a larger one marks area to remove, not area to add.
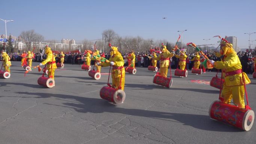
[[[243,123],[242,123],[243,130],[249,131],[253,126],[253,122],[254,122],[254,111],[253,110],[246,111],[246,113],[244,114]]]

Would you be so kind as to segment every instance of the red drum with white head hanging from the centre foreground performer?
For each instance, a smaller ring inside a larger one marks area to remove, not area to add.
[[[100,97],[116,104],[121,104],[125,100],[125,92],[122,89],[103,86],[100,90]]]

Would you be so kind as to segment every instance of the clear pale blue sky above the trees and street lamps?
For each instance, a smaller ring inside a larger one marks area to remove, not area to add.
[[[0,18],[14,20],[7,22],[7,35],[33,29],[46,40],[100,39],[112,29],[122,37],[175,43],[177,31],[188,30],[183,43],[202,45],[202,39],[216,43],[216,35],[236,36],[238,46],[247,48],[249,35],[244,33],[256,32],[255,6],[256,0],[3,0]],[[3,21],[0,34],[5,34]]]

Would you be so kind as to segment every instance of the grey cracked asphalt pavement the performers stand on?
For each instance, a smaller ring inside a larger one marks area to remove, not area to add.
[[[246,132],[210,119],[210,104],[219,97],[209,85],[215,72],[189,70],[180,78],[171,70],[168,89],[153,84],[156,72],[140,67],[125,74],[124,103],[113,104],[99,94],[109,67],[94,80],[81,65],[65,64],[49,89],[37,84],[42,71],[24,77],[20,63],[12,62],[9,79],[0,78],[0,144],[256,144],[256,123]],[[256,112],[256,79],[248,76]]]

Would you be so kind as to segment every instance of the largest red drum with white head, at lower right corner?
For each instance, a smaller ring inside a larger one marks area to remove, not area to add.
[[[219,120],[237,128],[249,131],[254,121],[254,111],[235,105],[214,101],[209,109],[211,119]]]

